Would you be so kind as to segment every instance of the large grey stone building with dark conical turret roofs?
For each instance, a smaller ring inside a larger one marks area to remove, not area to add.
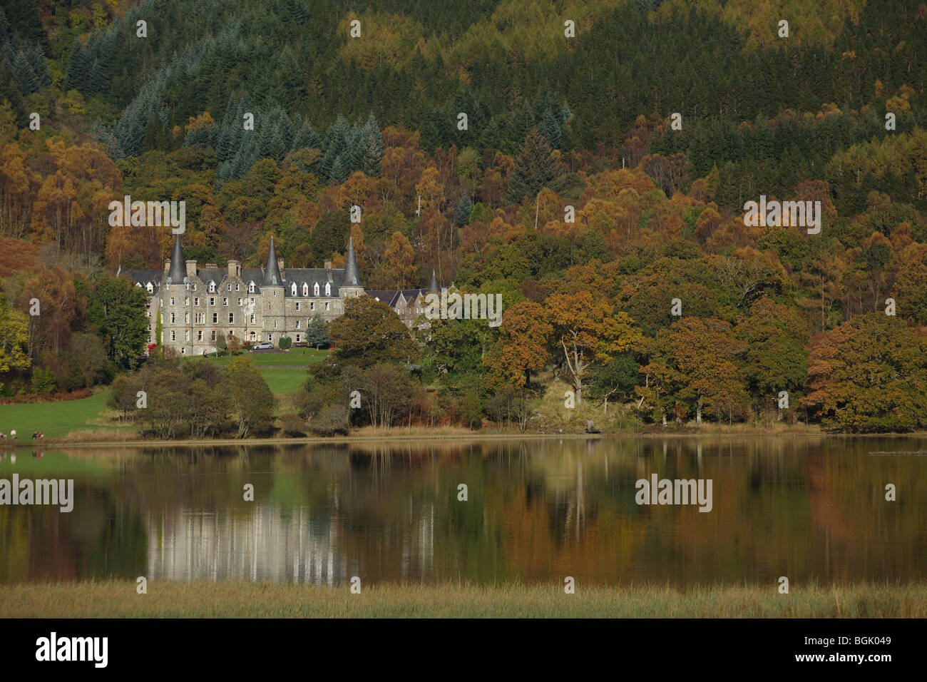
[[[201,355],[216,350],[219,335],[226,340],[271,341],[281,337],[304,341],[306,328],[315,315],[327,322],[344,312],[349,298],[364,294],[386,302],[402,321],[412,327],[415,317],[425,312],[425,295],[438,291],[432,275],[429,290],[365,291],[349,239],[344,268],[285,268],[278,260],[271,238],[267,264],[243,268],[229,261],[197,267],[184,260],[180,236],[174,239],[171,259],[163,270],[126,270],[136,286],[148,292],[148,342],[161,342],[182,355]],[[156,340],[158,315],[161,339]]]

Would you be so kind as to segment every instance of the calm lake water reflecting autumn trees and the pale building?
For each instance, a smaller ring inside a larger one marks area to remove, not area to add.
[[[0,479],[73,479],[74,508],[0,506],[0,583],[923,580],[927,455],[911,453],[925,450],[829,437],[6,450]],[[639,506],[635,482],[654,473],[711,479],[711,511]]]

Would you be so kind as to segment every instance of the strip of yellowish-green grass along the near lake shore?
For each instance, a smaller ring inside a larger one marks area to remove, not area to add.
[[[583,587],[133,581],[0,586],[0,618],[923,618],[927,585]]]

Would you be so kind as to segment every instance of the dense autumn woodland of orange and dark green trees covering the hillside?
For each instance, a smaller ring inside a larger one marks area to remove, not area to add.
[[[0,392],[144,354],[144,296],[116,274],[171,235],[110,227],[128,194],[185,200],[201,263],[258,266],[273,236],[287,266],[337,267],[352,236],[368,290],[434,271],[502,293],[500,328],[414,337],[352,305],[285,431],[535,428],[553,377],[582,417],[921,430],[925,35],[916,0],[9,0]],[[820,201],[821,233],[744,226],[761,195]],[[182,393],[207,370],[163,371]]]

